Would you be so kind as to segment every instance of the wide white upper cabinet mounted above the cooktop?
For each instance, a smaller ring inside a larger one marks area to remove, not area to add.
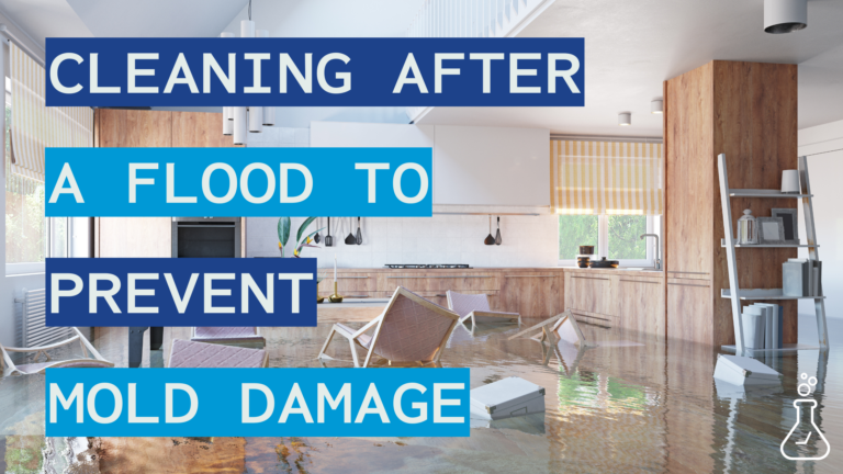
[[[312,122],[313,147],[432,147],[434,204],[550,205],[547,128]]]

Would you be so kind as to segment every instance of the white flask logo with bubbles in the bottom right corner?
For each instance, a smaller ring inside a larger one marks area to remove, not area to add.
[[[813,419],[817,400],[807,398],[817,385],[817,377],[809,379],[807,373],[802,373],[800,377],[806,382],[800,383],[796,391],[803,398],[794,400],[796,421],[782,441],[780,451],[783,456],[791,461],[820,461],[829,455],[831,445]]]

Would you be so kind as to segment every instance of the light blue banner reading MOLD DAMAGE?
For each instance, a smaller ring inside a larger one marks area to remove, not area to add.
[[[46,436],[468,437],[469,369],[48,369]]]

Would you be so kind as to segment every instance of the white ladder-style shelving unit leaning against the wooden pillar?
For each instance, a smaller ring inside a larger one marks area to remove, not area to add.
[[[726,237],[722,246],[727,249],[726,260],[729,267],[729,289],[720,291],[720,296],[731,300],[732,303],[732,321],[734,324],[734,346],[723,346],[726,350],[733,350],[735,353],[743,354],[748,352],[788,352],[796,350],[808,349],[822,349],[829,348],[829,334],[825,325],[825,296],[785,296],[782,289],[760,289],[760,290],[742,290],[738,283],[738,269],[735,268],[735,248],[808,248],[808,258],[810,260],[819,260],[817,252],[817,234],[813,226],[813,204],[811,199],[811,184],[808,180],[808,160],[807,157],[799,157],[799,181],[801,192],[805,194],[787,194],[777,190],[751,190],[751,189],[730,189],[729,178],[726,172],[726,155],[720,154],[717,160],[717,170],[720,174],[720,202],[723,208],[723,229],[726,230]],[[734,229],[732,222],[732,198],[758,198],[758,199],[800,199],[802,201],[802,216],[805,218],[806,238],[808,244],[806,245],[738,245],[734,239]],[[785,345],[779,349],[746,349],[743,347],[743,320],[741,318],[741,301],[780,301],[780,300],[813,300],[814,312],[817,314],[817,334],[819,335],[819,346],[805,346],[805,345]]]

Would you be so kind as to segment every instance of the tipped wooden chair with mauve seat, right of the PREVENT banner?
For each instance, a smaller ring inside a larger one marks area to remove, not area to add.
[[[372,354],[390,361],[390,364],[438,364],[448,338],[459,320],[460,316],[456,313],[398,286],[383,313],[362,328],[353,330],[346,325],[335,324],[319,351],[318,359],[334,359],[327,356],[325,350],[334,336],[339,335],[346,338],[351,347],[355,366],[361,366],[356,346],[367,351],[363,368],[369,366]],[[367,335],[371,329],[374,329],[374,332]]]

